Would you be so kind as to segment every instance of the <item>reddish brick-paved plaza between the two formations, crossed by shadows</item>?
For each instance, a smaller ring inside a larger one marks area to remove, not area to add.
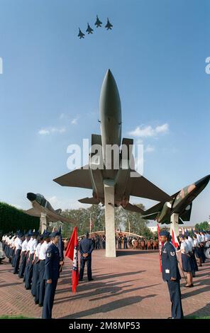
[[[157,251],[119,250],[114,259],[104,250],[93,252],[94,281],[79,283],[77,293],[70,291],[70,260],[65,261],[57,284],[52,317],[55,318],[167,318],[170,298],[162,281]],[[11,272],[11,265],[0,265],[0,315],[41,317],[31,291]],[[210,315],[210,260],[194,278],[194,288],[184,288],[184,315]]]

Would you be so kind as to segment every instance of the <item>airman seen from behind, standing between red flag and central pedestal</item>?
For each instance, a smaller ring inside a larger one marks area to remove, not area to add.
[[[84,266],[87,262],[87,278],[88,281],[92,281],[92,251],[94,249],[94,244],[92,239],[89,239],[89,233],[87,232],[84,239],[79,242],[79,252],[80,252],[80,271],[79,271],[79,281],[82,281],[84,274]]]

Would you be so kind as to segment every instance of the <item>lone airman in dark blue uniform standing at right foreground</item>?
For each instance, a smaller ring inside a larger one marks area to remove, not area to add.
[[[172,317],[170,319],[182,319],[182,301],[179,280],[181,278],[175,247],[169,242],[170,233],[162,230],[160,240],[163,243],[161,251],[162,278],[167,281],[172,303]]]

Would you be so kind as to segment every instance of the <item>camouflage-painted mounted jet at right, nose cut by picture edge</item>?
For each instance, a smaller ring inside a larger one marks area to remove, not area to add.
[[[166,203],[157,203],[145,210],[142,218],[145,220],[157,220],[158,223],[170,223],[173,213],[179,214],[179,224],[189,221],[192,211],[192,201],[209,183],[210,175],[196,181],[194,184],[182,188],[181,191],[172,195],[173,200]]]

